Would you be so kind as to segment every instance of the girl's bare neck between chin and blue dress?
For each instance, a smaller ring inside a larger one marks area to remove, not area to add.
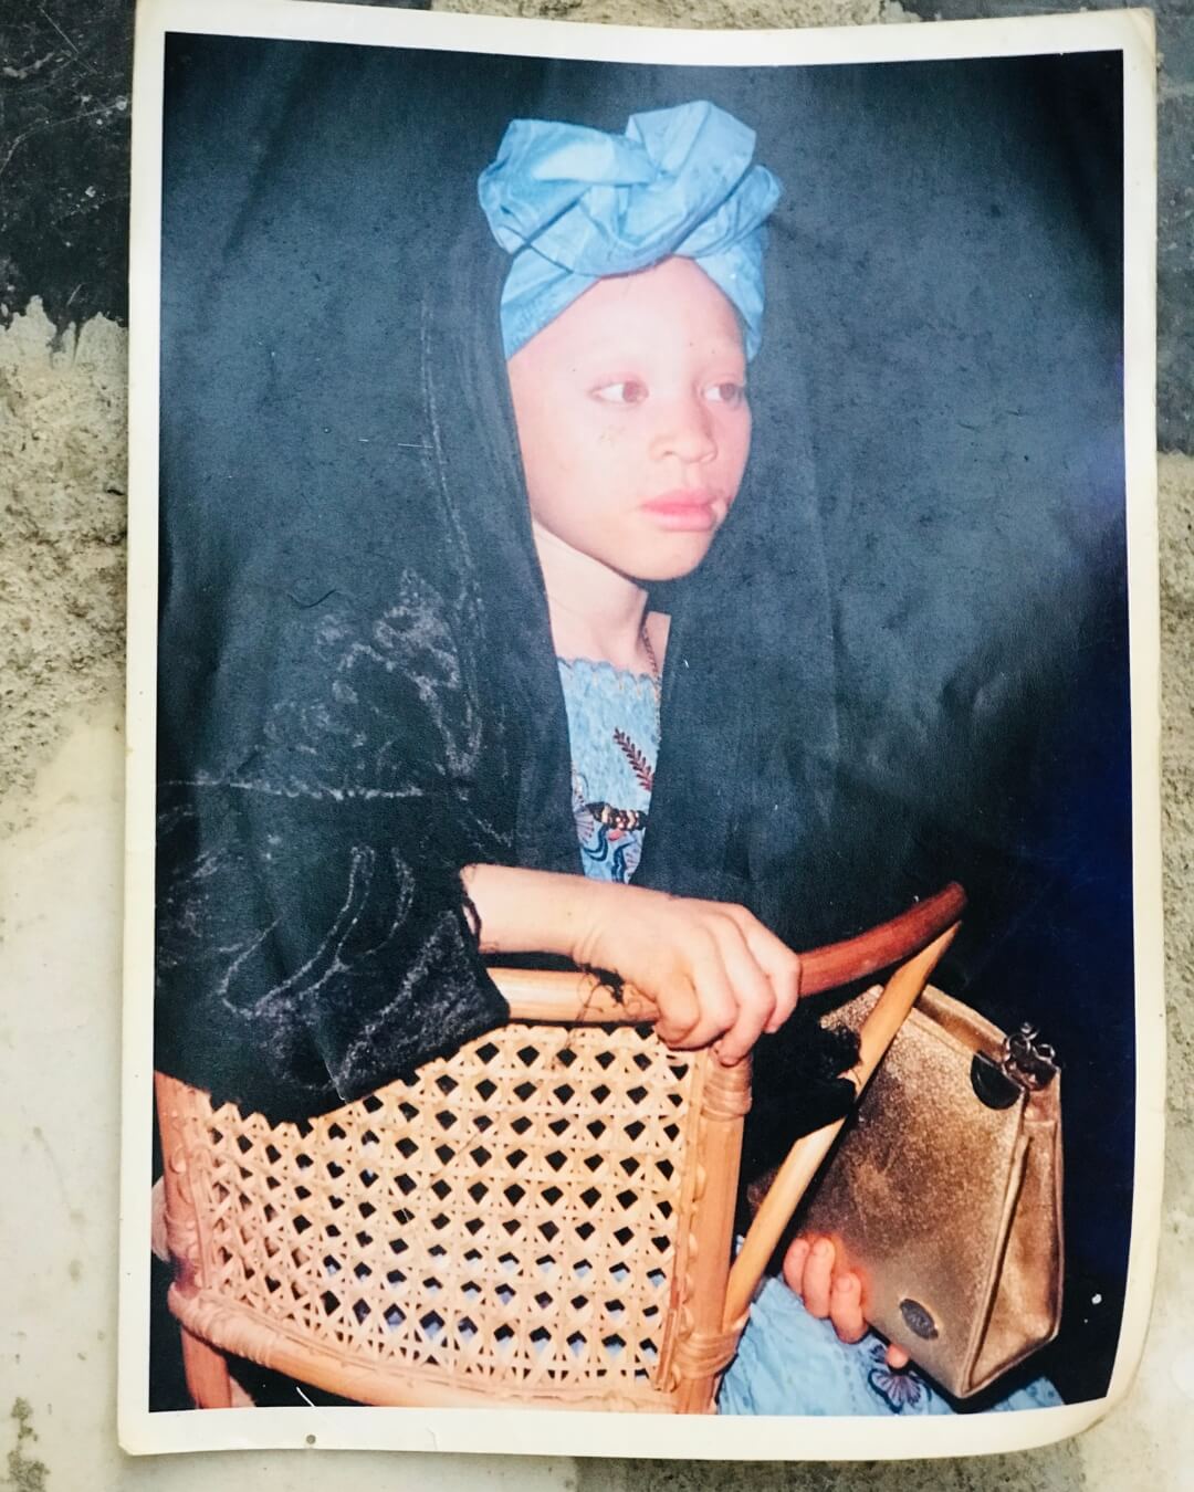
[[[646,589],[534,524],[555,652],[651,670],[643,645]]]

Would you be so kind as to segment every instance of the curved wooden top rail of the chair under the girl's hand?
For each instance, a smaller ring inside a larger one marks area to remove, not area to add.
[[[966,907],[966,892],[951,882],[878,927],[840,943],[798,953],[800,994],[816,995],[890,968],[952,927]],[[598,974],[555,973],[534,968],[493,968],[494,983],[506,997],[512,1021],[561,1021],[569,1025],[654,1021],[654,1003],[633,985],[613,985]]]

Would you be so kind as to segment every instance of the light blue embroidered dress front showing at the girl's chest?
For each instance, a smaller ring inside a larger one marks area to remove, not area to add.
[[[596,880],[625,883],[642,858],[655,782],[655,680],[588,658],[561,658],[558,664],[581,865]]]

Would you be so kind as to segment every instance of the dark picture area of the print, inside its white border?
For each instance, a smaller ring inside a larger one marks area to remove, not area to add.
[[[148,1410],[1106,1395],[1122,97],[167,36]]]

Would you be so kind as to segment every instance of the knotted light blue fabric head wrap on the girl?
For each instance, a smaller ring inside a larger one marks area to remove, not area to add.
[[[506,357],[606,275],[696,260],[761,342],[764,219],[781,186],[752,166],[755,133],[712,103],[630,116],[625,134],[515,119],[478,194],[513,255],[501,289]]]

